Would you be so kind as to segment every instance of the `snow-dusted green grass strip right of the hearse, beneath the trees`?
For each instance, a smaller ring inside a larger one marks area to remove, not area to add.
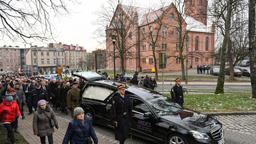
[[[171,94],[166,94],[168,97]],[[256,111],[256,99],[251,94],[184,94],[184,107],[202,113]]]

